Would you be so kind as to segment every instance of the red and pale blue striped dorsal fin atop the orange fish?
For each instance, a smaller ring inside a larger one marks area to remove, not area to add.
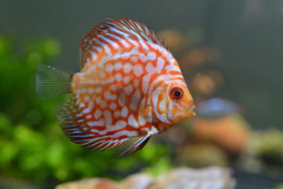
[[[143,40],[161,45],[168,50],[166,43],[144,23],[125,17],[110,19],[108,22],[93,26],[81,40],[79,45],[81,68],[86,64],[86,52],[91,50],[96,54],[103,45],[112,45],[115,42],[117,44],[121,40]]]

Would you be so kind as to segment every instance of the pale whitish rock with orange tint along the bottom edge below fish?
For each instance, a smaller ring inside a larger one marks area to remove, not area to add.
[[[175,168],[156,179],[146,173],[128,176],[120,183],[105,178],[89,178],[63,183],[57,189],[233,189],[236,180],[229,168]]]

